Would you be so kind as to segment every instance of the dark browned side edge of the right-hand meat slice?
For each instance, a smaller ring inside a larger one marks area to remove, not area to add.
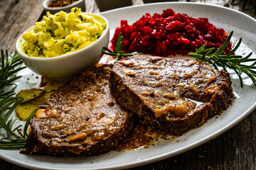
[[[198,64],[203,63],[198,62]],[[203,64],[203,67],[208,66]],[[213,68],[208,67],[208,69]],[[207,118],[220,114],[228,108],[233,98],[233,89],[228,72],[221,70],[215,83],[220,87],[220,90],[215,91],[213,94],[206,94],[206,97],[210,98],[210,102],[203,106],[198,106],[193,111],[193,114],[185,118],[169,121],[165,117],[155,118],[154,111],[147,107],[144,101],[142,101],[142,98],[129,88],[129,84],[125,84],[124,79],[117,72],[114,72],[113,69],[110,73],[112,94],[124,108],[137,113],[141,118],[144,116],[143,119],[147,123],[157,123],[160,128],[169,131],[171,135],[177,136],[182,135],[192,128],[200,127]]]

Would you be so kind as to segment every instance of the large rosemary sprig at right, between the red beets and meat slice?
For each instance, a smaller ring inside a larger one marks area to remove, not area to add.
[[[242,73],[245,73],[252,79],[253,84],[256,85],[256,59],[250,58],[252,55],[252,52],[250,52],[249,55],[246,57],[242,57],[241,55],[233,55],[235,50],[238,49],[240,43],[242,42],[242,38],[238,41],[238,44],[235,45],[234,49],[228,53],[228,55],[223,55],[225,52],[225,47],[227,47],[228,42],[230,42],[230,39],[233,35],[233,31],[228,36],[227,40],[223,43],[223,45],[215,52],[214,47],[205,49],[207,45],[203,45],[200,48],[196,49],[195,53],[188,53],[189,56],[196,58],[196,60],[202,60],[205,64],[212,64],[215,69],[218,69],[218,67],[223,67],[225,71],[227,71],[226,68],[233,69],[236,74],[238,74],[238,77],[240,79],[241,87],[243,86],[242,81]],[[245,62],[253,62],[250,65],[242,64]]]

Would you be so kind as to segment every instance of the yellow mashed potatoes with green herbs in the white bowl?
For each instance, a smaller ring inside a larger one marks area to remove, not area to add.
[[[56,57],[87,47],[102,35],[105,21],[97,16],[72,8],[43,16],[43,21],[22,35],[19,47],[31,57]]]

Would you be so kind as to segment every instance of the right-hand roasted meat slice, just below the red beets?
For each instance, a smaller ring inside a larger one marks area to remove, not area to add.
[[[233,98],[227,72],[194,60],[127,57],[114,63],[110,83],[124,108],[172,135],[203,125]]]

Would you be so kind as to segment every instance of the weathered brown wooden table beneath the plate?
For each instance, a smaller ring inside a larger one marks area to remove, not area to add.
[[[256,1],[248,0],[244,9],[242,1],[215,0],[202,1],[235,8],[255,17]],[[40,20],[44,14],[43,0],[0,0],[0,48],[14,52],[15,43],[24,30]],[[99,12],[94,0],[86,0],[86,11]],[[133,4],[143,4],[133,0]],[[255,28],[256,29],[256,28]],[[0,159],[0,169],[22,169]],[[256,110],[245,120],[223,135],[191,151],[161,162],[134,168],[142,169],[256,169]]]

